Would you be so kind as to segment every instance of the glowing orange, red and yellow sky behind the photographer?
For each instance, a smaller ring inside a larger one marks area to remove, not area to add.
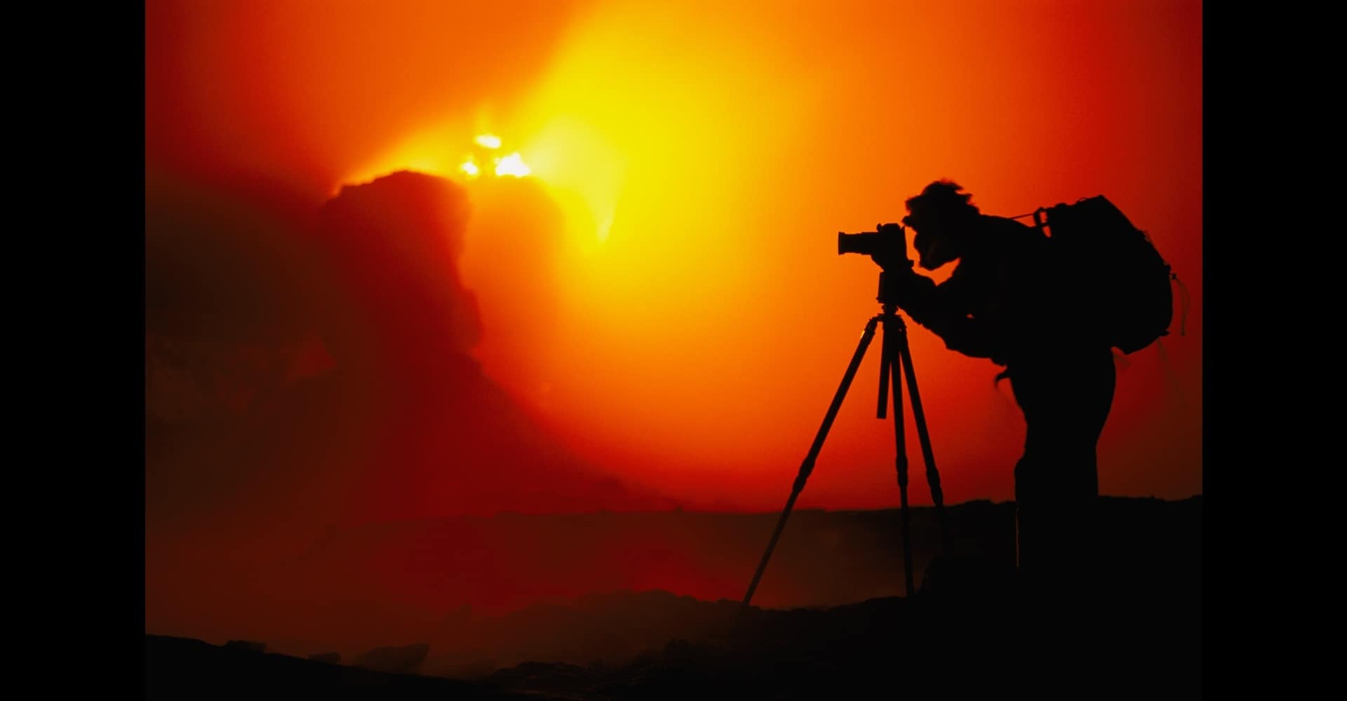
[[[147,161],[317,207],[396,168],[458,178],[498,135],[556,211],[520,219],[469,183],[486,371],[624,479],[762,510],[877,311],[878,269],[836,256],[838,230],[897,221],[938,178],[1001,215],[1106,194],[1191,301],[1185,335],[1176,313],[1119,362],[1100,490],[1199,494],[1200,3],[725,5],[148,1]],[[947,499],[1013,498],[1022,420],[997,367],[911,343]],[[897,503],[877,357],[801,507]]]

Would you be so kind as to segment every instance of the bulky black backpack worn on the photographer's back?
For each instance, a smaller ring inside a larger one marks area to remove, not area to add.
[[[1067,273],[1083,328],[1131,354],[1169,334],[1177,277],[1145,231],[1103,195],[1033,213]]]

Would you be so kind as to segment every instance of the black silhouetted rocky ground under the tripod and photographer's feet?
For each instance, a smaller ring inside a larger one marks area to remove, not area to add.
[[[1196,603],[1102,615],[1079,611],[1070,636],[1014,635],[1037,612],[1014,592],[997,605],[923,595],[773,611],[752,608],[714,639],[674,638],[616,666],[527,662],[490,689],[566,698],[1195,698],[1202,689]],[[974,605],[968,605],[968,604]],[[702,603],[703,607],[714,604]],[[1022,685],[1022,686],[1021,686]]]

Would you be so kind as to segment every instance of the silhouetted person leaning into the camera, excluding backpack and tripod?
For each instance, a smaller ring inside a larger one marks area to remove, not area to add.
[[[1034,589],[1076,593],[1094,569],[1095,448],[1113,404],[1111,344],[1083,323],[1092,311],[1072,293],[1049,238],[970,200],[947,180],[907,200],[917,265],[959,261],[944,283],[913,269],[898,225],[866,234],[876,237],[872,257],[913,322],[950,350],[1005,367],[1026,424],[1014,468],[1020,572]]]

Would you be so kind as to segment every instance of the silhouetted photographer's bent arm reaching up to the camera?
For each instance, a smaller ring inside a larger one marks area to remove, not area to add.
[[[952,351],[973,358],[991,358],[989,324],[967,313],[962,303],[958,270],[939,285],[911,268],[890,274],[898,276],[898,307],[913,322],[940,336]]]

